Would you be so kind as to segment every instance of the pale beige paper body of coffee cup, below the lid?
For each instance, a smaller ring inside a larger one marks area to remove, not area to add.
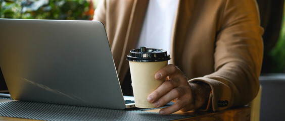
[[[155,74],[166,66],[168,61],[162,62],[132,62],[129,61],[131,81],[135,106],[139,108],[154,108],[147,101],[149,94],[156,90],[163,80],[156,80]]]

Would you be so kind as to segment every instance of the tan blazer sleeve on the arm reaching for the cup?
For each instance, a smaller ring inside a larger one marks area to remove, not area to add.
[[[248,104],[258,93],[263,29],[254,0],[224,1],[215,42],[215,72],[188,82],[212,88],[214,111]]]

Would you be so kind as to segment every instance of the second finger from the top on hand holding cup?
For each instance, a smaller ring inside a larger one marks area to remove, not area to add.
[[[164,81],[155,91],[153,91],[147,98],[151,103],[157,101],[160,97],[165,95],[167,92],[179,86],[179,81],[176,79],[170,79]]]

